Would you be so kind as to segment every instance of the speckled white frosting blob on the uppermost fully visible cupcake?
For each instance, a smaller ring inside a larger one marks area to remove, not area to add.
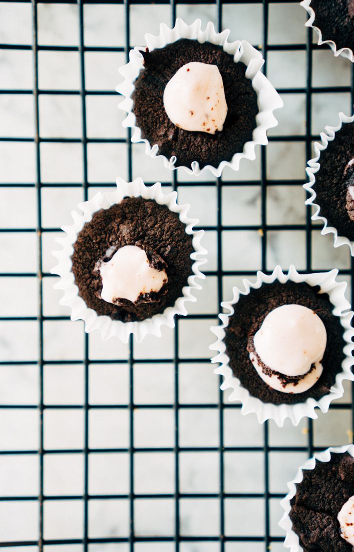
[[[227,114],[224,84],[216,65],[186,63],[166,84],[164,106],[179,128],[215,134]]]

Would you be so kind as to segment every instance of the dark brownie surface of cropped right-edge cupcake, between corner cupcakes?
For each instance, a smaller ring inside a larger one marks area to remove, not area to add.
[[[315,174],[313,189],[320,206],[320,215],[334,226],[340,236],[354,240],[354,224],[348,215],[347,189],[351,171],[346,171],[348,162],[354,157],[354,123],[343,124],[334,140],[321,152],[319,171]]]

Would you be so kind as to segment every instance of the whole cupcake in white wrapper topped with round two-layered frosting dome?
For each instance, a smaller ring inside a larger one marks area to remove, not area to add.
[[[345,282],[337,270],[299,274],[291,266],[284,274],[257,273],[254,283],[233,288],[231,301],[221,303],[221,325],[210,349],[215,374],[224,376],[222,390],[232,389],[230,401],[242,402],[242,414],[282,426],[290,418],[317,418],[352,380],[353,313],[345,299]]]

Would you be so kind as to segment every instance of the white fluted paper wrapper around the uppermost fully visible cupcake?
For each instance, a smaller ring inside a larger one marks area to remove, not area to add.
[[[201,172],[209,169],[215,177],[220,177],[225,167],[231,167],[234,171],[238,171],[239,162],[243,157],[254,160],[255,146],[268,144],[266,131],[277,125],[277,120],[273,115],[273,111],[281,108],[283,105],[275,88],[270,84],[263,73],[260,72],[264,63],[262,55],[246,40],[237,40],[232,43],[228,42],[227,38],[229,34],[230,30],[228,29],[222,31],[222,33],[216,33],[214,25],[211,22],[206,25],[205,30],[202,30],[200,19],[196,19],[192,25],[187,25],[182,19],[178,18],[173,29],[161,23],[158,36],[153,36],[151,34],[145,35],[146,45],[150,51],[156,48],[162,48],[167,44],[172,44],[182,38],[198,40],[201,44],[208,41],[212,44],[222,46],[227,54],[233,55],[233,59],[236,63],[241,61],[247,66],[246,77],[252,80],[252,86],[258,94],[259,113],[256,116],[257,127],[253,131],[253,140],[246,142],[243,151],[235,153],[231,161],[222,161],[218,167],[207,165],[204,168],[200,168],[197,161],[193,161],[192,165],[189,167],[183,166],[188,174],[198,176]],[[133,113],[132,94],[134,91],[134,81],[137,79],[140,71],[143,70],[143,67],[143,55],[140,49],[135,47],[134,50],[129,52],[129,63],[119,68],[119,73],[124,77],[124,81],[117,86],[116,90],[125,98],[118,107],[127,112],[127,117],[123,121],[123,126],[132,129],[132,142],[145,143],[146,155],[150,157],[162,157],[165,167],[168,169],[173,170],[182,168],[175,166],[175,156],[168,159],[164,155],[159,155],[159,147],[157,144],[150,145],[148,140],[143,139],[141,130],[136,126],[136,118]],[[146,102],[149,102],[149,98],[146,98]]]

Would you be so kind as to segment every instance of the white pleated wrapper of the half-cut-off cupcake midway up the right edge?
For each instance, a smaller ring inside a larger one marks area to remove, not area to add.
[[[304,189],[310,194],[310,197],[306,200],[306,205],[313,205],[314,212],[311,217],[312,220],[320,220],[323,223],[323,229],[321,230],[322,235],[333,234],[334,247],[340,247],[341,245],[348,245],[350,247],[351,255],[354,255],[354,242],[348,240],[345,236],[339,236],[337,229],[334,226],[328,225],[328,220],[322,214],[320,214],[321,208],[320,205],[316,203],[316,192],[313,189],[313,185],[316,181],[315,174],[319,171],[320,168],[320,156],[321,152],[326,149],[329,142],[335,139],[335,134],[342,128],[342,124],[352,123],[354,121],[354,115],[348,117],[344,113],[339,113],[339,124],[337,126],[325,126],[326,132],[321,132],[320,142],[315,142],[314,151],[315,157],[307,162],[308,167],[306,168],[307,176],[309,177],[309,182],[303,185]],[[348,160],[350,161],[350,160]],[[344,205],[345,208],[345,205]]]

